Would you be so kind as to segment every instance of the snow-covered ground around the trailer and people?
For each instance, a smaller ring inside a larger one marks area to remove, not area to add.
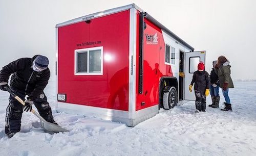
[[[95,117],[56,113],[51,83],[46,94],[55,120],[71,131],[47,134],[38,119],[25,112],[22,130],[11,139],[4,133],[9,95],[1,91],[0,155],[256,155],[256,82],[234,85],[230,89],[233,112],[207,107],[205,113],[194,113],[195,103],[187,102],[127,127]]]

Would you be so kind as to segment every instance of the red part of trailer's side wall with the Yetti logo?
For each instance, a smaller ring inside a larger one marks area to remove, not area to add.
[[[158,105],[159,80],[162,76],[173,76],[170,65],[164,64],[165,43],[162,31],[145,19],[143,44],[143,94],[139,94],[139,13],[137,12],[137,76],[136,76],[136,111]],[[155,36],[156,35],[156,36]],[[155,36],[155,42],[153,40]],[[141,102],[145,102],[142,106]]]

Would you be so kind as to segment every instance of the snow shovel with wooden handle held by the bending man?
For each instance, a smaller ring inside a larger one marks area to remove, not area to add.
[[[5,87],[5,89],[13,96],[16,100],[18,100],[20,103],[22,103],[23,106],[25,106],[25,102],[19,98],[16,94],[14,94],[10,88]],[[53,124],[51,122],[46,121],[44,118],[42,118],[37,112],[35,112],[33,109],[31,112],[37,116],[41,121],[41,126],[46,129],[48,132],[69,132],[69,130],[62,128],[59,125]]]

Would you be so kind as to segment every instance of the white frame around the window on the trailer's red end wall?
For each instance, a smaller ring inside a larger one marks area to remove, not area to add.
[[[100,50],[101,53],[101,70],[100,72],[90,72],[90,67],[89,67],[89,60],[90,60],[90,51],[91,50]],[[87,72],[77,72],[77,54],[79,53],[86,53],[87,52]],[[75,56],[75,61],[74,61],[74,74],[75,75],[103,75],[103,46],[97,46],[97,47],[90,47],[90,48],[83,48],[83,49],[75,49],[74,50],[74,56]]]

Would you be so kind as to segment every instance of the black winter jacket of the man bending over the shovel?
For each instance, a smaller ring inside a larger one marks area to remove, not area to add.
[[[10,87],[24,92],[31,99],[38,98],[44,91],[50,78],[49,68],[36,72],[32,63],[38,55],[33,58],[21,58],[3,67],[0,71],[0,82],[7,82],[10,75]]]

